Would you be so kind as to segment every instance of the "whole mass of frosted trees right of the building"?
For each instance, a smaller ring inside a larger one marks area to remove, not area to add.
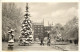
[[[64,40],[78,40],[78,18],[74,17],[69,20],[66,25],[62,26],[60,23],[53,26],[51,31],[52,38],[57,37],[58,32]]]

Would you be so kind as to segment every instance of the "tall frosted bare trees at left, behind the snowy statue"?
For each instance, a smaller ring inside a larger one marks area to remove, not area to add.
[[[8,39],[7,32],[10,28],[16,29],[15,38],[19,36],[20,19],[22,12],[20,8],[17,8],[15,3],[2,3],[2,39]],[[5,38],[4,38],[5,37]]]

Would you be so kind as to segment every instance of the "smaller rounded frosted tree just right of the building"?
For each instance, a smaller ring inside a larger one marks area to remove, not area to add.
[[[53,30],[51,30],[51,37],[56,39],[58,37],[57,35],[61,34],[61,36],[62,36],[63,30],[64,30],[63,26],[60,23],[57,23],[53,27]]]

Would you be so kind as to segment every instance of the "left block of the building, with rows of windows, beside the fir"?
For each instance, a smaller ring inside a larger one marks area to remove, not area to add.
[[[39,38],[40,36],[43,36],[43,28],[43,23],[33,23],[34,40],[36,40],[36,38]]]

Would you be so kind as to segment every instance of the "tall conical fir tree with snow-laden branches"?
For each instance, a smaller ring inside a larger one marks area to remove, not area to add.
[[[24,15],[24,21],[22,22],[22,29],[21,29],[21,38],[26,38],[26,41],[32,41],[32,24],[30,20],[30,14],[28,11],[28,3],[26,6],[26,14]]]

